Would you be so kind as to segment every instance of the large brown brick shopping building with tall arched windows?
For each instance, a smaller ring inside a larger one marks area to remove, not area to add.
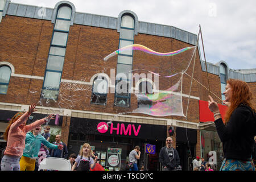
[[[200,119],[200,101],[208,101],[209,91],[205,63],[199,51],[196,52],[194,71],[192,66],[187,71],[190,76],[193,72],[195,78],[191,89],[191,77],[183,76],[181,96],[184,112],[189,100],[187,119],[175,115],[154,117],[130,113],[139,104],[134,94],[108,92],[115,90],[116,73],[140,68],[163,75],[170,73],[163,57],[149,57],[146,53],[132,51],[104,61],[109,53],[129,44],[142,44],[158,52],[176,51],[195,46],[197,35],[173,26],[140,22],[129,10],[113,18],[77,13],[69,1],[60,1],[53,9],[9,0],[0,2],[1,133],[16,111],[27,110],[36,102],[38,111],[32,114],[31,121],[49,113],[59,114],[59,122],[52,121],[50,125],[52,129],[61,130],[69,154],[78,154],[83,143],[90,143],[100,152],[102,166],[110,169],[125,169],[127,156],[136,145],[141,146],[142,151],[140,166],[161,169],[158,152],[165,144],[170,126],[175,128],[172,138],[184,170],[191,169],[195,156],[209,157],[209,151],[216,151],[217,167],[220,167],[221,142],[214,123]],[[171,59],[171,66],[185,68],[181,58],[188,57]],[[223,97],[221,93],[228,78],[248,82],[255,95],[255,69],[229,69],[225,61],[207,63],[207,67],[210,91],[219,104],[218,98]],[[100,82],[107,85],[103,93],[96,89]],[[132,89],[139,90],[138,85],[133,85]],[[159,88],[167,89],[161,81]],[[256,107],[255,99],[253,105]],[[111,131],[100,133],[97,126],[102,122],[109,122]],[[145,153],[147,143],[156,145],[156,154]],[[119,161],[116,164],[115,158],[110,160],[113,155]]]

